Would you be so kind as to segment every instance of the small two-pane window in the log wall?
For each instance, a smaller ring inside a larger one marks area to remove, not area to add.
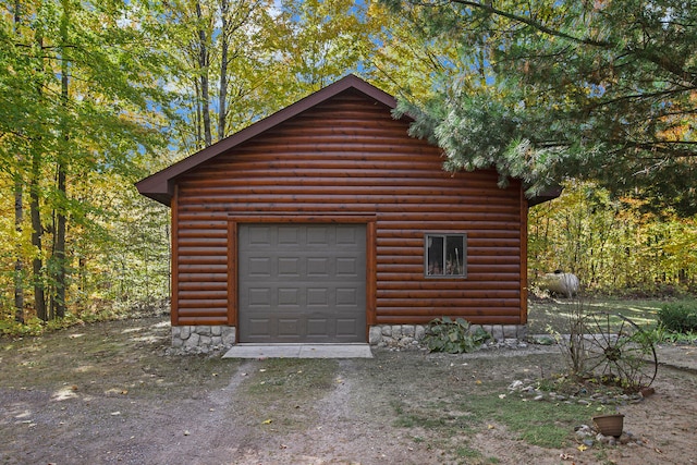
[[[426,234],[425,274],[429,278],[467,277],[467,234]]]

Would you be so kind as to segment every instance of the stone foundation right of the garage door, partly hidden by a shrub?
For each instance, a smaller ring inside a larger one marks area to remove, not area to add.
[[[377,325],[370,327],[368,342],[380,347],[419,347],[426,335],[425,325]],[[481,328],[496,342],[527,339],[527,325],[472,325],[472,330]]]

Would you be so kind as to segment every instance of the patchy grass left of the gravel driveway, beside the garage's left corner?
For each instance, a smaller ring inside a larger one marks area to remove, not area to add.
[[[142,399],[182,399],[224,387],[239,364],[206,356],[167,357],[169,326],[120,321],[0,342],[0,388]]]

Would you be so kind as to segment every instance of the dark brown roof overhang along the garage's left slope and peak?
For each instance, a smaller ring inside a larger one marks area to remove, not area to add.
[[[396,99],[390,94],[350,74],[295,103],[277,111],[270,117],[257,121],[244,130],[184,158],[162,171],[138,181],[135,185],[140,194],[169,206],[172,195],[174,194],[174,178],[348,89],[358,90],[390,109],[396,107]]]

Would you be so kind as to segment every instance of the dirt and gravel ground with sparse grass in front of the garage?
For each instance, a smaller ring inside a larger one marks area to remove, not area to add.
[[[697,370],[668,359],[694,346],[663,351],[656,394],[621,407],[640,443],[582,451],[573,425],[547,449],[453,402],[560,369],[557,347],[234,360],[168,355],[169,335],[159,317],[0,340],[0,464],[697,463]]]

